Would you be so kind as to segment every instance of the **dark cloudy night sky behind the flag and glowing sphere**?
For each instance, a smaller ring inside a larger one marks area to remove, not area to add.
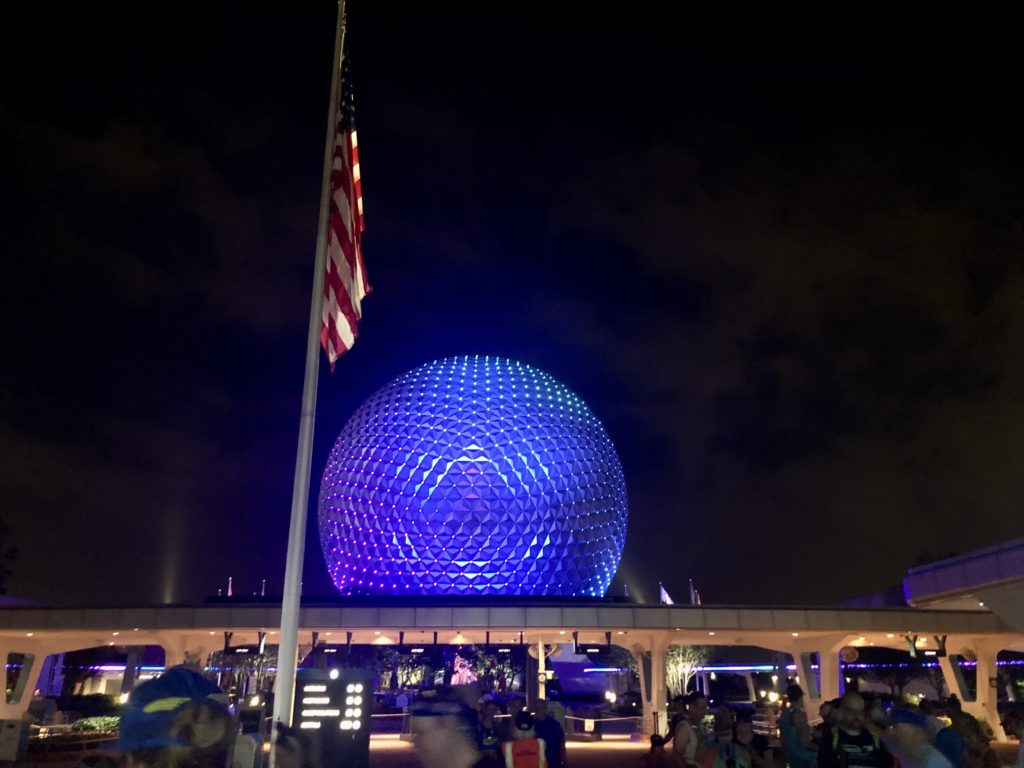
[[[311,499],[364,398],[481,353],[615,442],[611,594],[828,603],[1024,532],[1021,11],[820,5],[351,0],[375,292],[322,362]],[[8,592],[280,592],[334,7],[33,7],[0,101]]]

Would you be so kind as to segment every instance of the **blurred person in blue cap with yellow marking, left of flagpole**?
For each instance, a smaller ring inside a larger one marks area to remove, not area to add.
[[[121,711],[128,768],[229,768],[238,726],[227,695],[186,667],[136,687]]]

